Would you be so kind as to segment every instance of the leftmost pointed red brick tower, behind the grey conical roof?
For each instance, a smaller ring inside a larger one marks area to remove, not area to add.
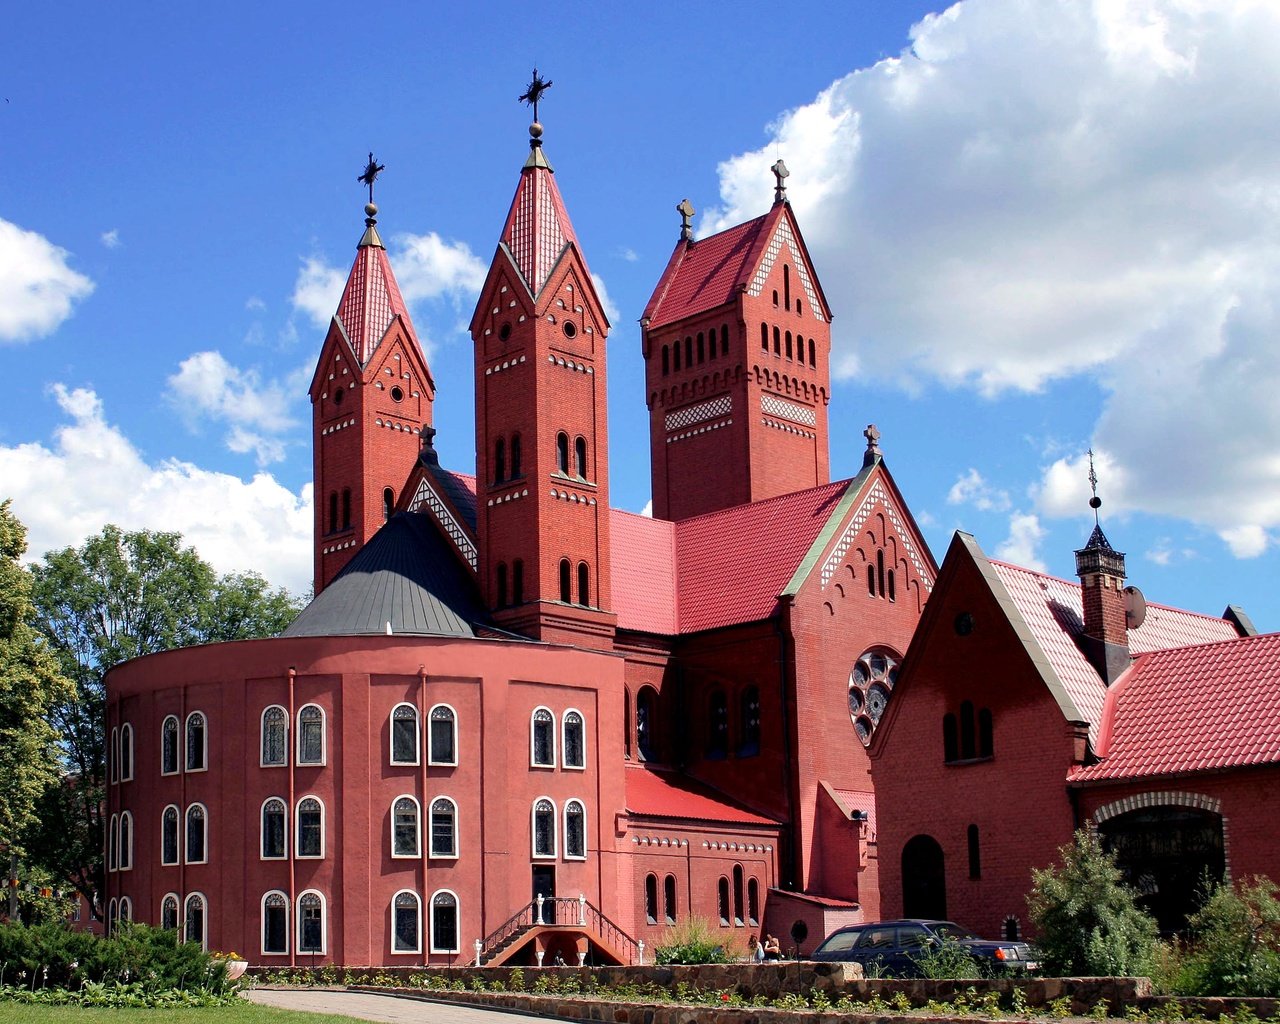
[[[365,234],[311,379],[315,593],[387,521],[431,424],[435,383],[378,234],[369,155]]]

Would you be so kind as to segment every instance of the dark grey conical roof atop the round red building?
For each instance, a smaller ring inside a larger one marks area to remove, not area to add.
[[[475,636],[485,621],[470,572],[425,515],[393,516],[283,636]]]

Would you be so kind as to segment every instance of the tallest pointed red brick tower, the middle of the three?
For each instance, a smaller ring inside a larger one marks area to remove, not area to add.
[[[529,159],[471,319],[477,572],[499,626],[608,649],[609,321],[541,148],[548,86],[521,97]]]

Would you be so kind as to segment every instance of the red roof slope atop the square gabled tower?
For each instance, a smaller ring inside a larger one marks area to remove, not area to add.
[[[696,242],[680,242],[658,280],[641,319],[659,328],[728,302],[746,287],[774,221],[777,205],[763,216]]]

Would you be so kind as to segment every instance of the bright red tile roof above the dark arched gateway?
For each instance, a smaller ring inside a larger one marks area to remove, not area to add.
[[[1280,634],[1143,654],[1107,695],[1098,754],[1070,778],[1280,762]]]

